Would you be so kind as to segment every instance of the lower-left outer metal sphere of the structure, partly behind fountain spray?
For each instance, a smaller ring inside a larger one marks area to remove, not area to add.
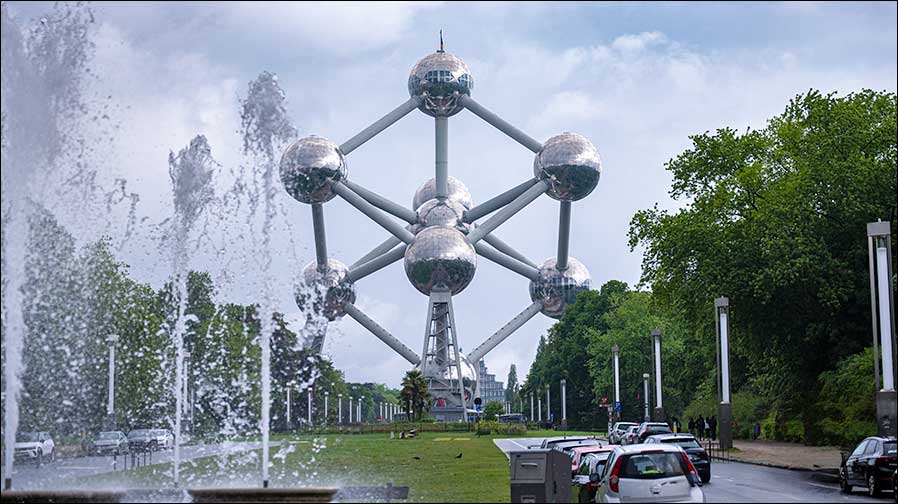
[[[346,314],[343,303],[354,303],[355,284],[346,279],[349,268],[336,259],[327,260],[327,268],[320,269],[313,261],[303,269],[303,283],[296,287],[296,305],[300,310],[312,310],[334,321]]]

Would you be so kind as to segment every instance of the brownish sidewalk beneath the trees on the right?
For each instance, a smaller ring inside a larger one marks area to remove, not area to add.
[[[805,446],[777,441],[733,441],[733,460],[808,471],[838,470],[842,456],[836,446]],[[829,472],[829,471],[827,471]]]

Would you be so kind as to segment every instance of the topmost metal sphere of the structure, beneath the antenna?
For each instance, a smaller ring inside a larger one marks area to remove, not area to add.
[[[421,98],[418,107],[433,117],[449,117],[463,107],[461,95],[471,95],[474,77],[464,61],[455,55],[439,51],[425,56],[415,64],[408,76],[408,93]]]

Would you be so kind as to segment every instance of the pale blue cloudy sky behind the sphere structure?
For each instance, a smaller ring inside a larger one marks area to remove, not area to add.
[[[52,7],[8,4],[27,25]],[[641,209],[676,209],[664,165],[689,136],[717,128],[761,128],[809,89],[841,95],[895,92],[896,4],[889,3],[98,3],[92,6],[96,76],[116,130],[104,141],[101,181],[127,181],[140,195],[141,225],[118,244],[140,281],[159,287],[171,273],[155,223],[171,215],[170,151],[205,135],[221,187],[247,166],[239,100],[261,72],[278,75],[300,136],[349,139],[408,98],[408,72],[438,48],[471,69],[473,98],[544,141],[574,131],[598,148],[596,190],[573,205],[571,255],[593,287],[636,285],[641,251],[629,222]],[[351,180],[411,205],[434,169],[433,119],[413,112],[347,157]],[[449,171],[475,204],[533,176],[533,154],[467,111],[449,121]],[[250,166],[250,170],[253,167]],[[300,320],[293,282],[314,259],[311,210],[279,191],[273,232],[273,299]],[[120,229],[125,211],[86,219],[59,215],[89,238]],[[328,250],[352,264],[387,237],[346,202],[324,207]],[[87,220],[88,222],[84,222]],[[255,302],[258,240],[239,223],[198,239],[191,266],[210,271],[224,301]],[[219,223],[221,224],[221,223]],[[542,197],[496,234],[534,262],[556,250],[558,202]],[[114,233],[113,233],[114,234]],[[222,258],[227,259],[223,260]],[[460,346],[473,349],[529,303],[527,281],[481,259],[454,299]],[[427,299],[395,263],[357,284],[357,305],[420,351]],[[709,293],[713,296],[715,293]],[[523,379],[541,334],[537,315],[486,357],[498,379],[511,364]],[[398,385],[407,362],[348,317],[331,324],[325,353],[352,381]]]

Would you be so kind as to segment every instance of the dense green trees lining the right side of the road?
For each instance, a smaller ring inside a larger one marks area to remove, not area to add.
[[[666,165],[682,208],[631,223],[651,290],[610,281],[582,294],[540,345],[525,393],[566,378],[569,419],[601,424],[617,344],[623,413],[638,418],[659,327],[668,413],[713,413],[713,299],[727,296],[740,433],[755,422],[765,437],[812,443],[871,432],[866,224],[889,220],[898,237],[895,94],[810,91],[763,129],[691,139]]]

